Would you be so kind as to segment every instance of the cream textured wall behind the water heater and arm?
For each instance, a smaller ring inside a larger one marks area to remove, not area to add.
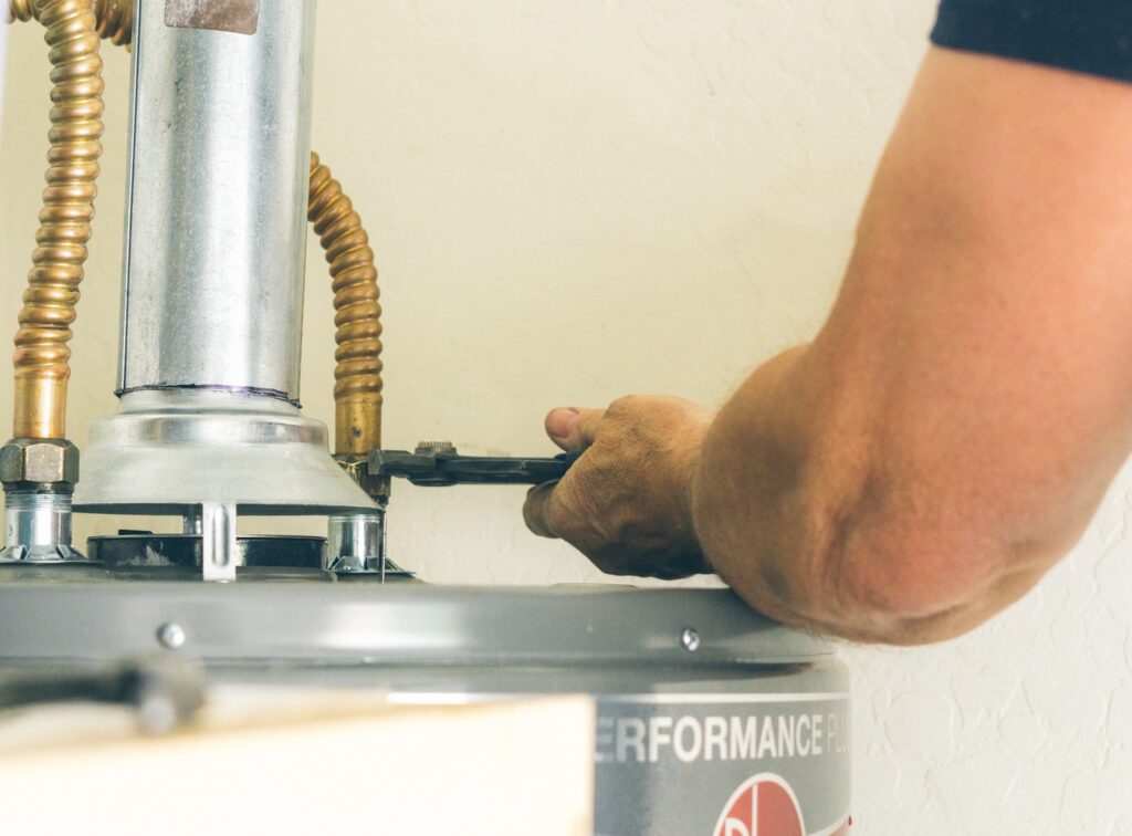
[[[324,0],[315,145],[379,253],[387,444],[549,453],[549,407],[627,392],[719,403],[813,334],[933,12],[933,0]],[[20,25],[10,51],[9,327],[48,92],[40,33]],[[114,406],[127,62],[105,52],[105,176],[71,390],[80,442]],[[326,420],[331,296],[314,247],[308,275],[303,394]],[[0,404],[10,393],[0,375]],[[855,833],[1132,833],[1129,477],[1073,556],[981,630],[846,649]],[[394,555],[437,581],[598,578],[525,534],[521,497],[398,487]]]

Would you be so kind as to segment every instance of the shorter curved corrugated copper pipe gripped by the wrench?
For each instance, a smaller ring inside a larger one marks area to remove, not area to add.
[[[342,185],[310,155],[307,216],[326,250],[334,288],[334,438],[338,455],[381,446],[381,306],[369,236]]]

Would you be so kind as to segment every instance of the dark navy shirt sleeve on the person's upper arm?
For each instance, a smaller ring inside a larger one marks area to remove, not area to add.
[[[1132,82],[1132,0],[943,0],[932,41]]]

